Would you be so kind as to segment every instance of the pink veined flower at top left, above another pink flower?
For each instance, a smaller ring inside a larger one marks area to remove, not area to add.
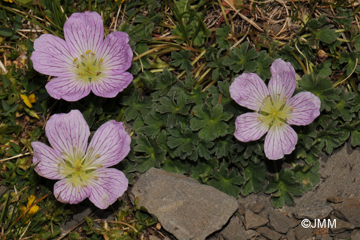
[[[41,35],[31,55],[35,70],[56,76],[45,86],[50,96],[77,101],[93,91],[115,97],[132,82],[133,75],[126,72],[133,57],[127,33],[113,32],[104,39],[101,16],[87,11],[67,19],[64,35],[65,41]]]

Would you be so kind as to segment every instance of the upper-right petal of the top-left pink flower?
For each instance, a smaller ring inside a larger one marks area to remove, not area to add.
[[[106,36],[101,45],[98,58],[102,58],[101,68],[122,73],[131,67],[133,50],[129,36],[125,32],[113,32]]]

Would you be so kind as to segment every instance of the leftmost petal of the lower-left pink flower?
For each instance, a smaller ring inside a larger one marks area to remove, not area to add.
[[[43,177],[49,179],[62,179],[66,175],[61,174],[60,166],[63,164],[61,153],[52,149],[41,142],[32,142],[31,147],[34,151],[32,164],[36,165],[35,171]],[[59,166],[60,165],[60,166]]]

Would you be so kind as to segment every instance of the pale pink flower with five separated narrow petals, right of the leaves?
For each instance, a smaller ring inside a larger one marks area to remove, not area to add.
[[[256,112],[236,118],[235,137],[255,141],[266,132],[264,151],[268,159],[280,159],[295,149],[297,134],[289,125],[308,125],[320,115],[320,99],[310,92],[292,97],[295,69],[280,58],[271,66],[268,88],[255,73],[243,73],[230,86],[230,95],[239,105]]]

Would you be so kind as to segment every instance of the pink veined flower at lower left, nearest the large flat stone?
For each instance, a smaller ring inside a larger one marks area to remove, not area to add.
[[[62,203],[77,204],[86,197],[98,208],[113,204],[128,188],[128,179],[114,168],[130,151],[131,138],[122,123],[106,122],[90,135],[78,110],[52,115],[46,124],[52,148],[32,142],[35,171],[49,179],[60,179],[54,194]]]

